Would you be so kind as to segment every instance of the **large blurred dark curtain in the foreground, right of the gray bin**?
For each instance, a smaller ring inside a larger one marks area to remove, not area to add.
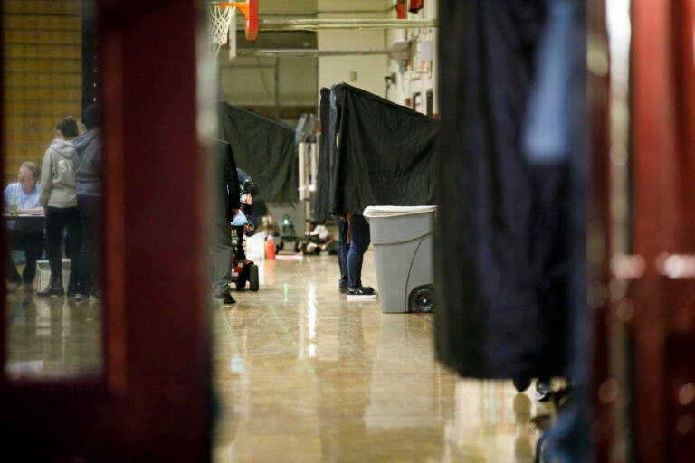
[[[436,175],[436,348],[462,376],[568,373],[570,272],[579,249],[570,213],[572,148],[567,143],[553,156],[533,157],[524,141],[551,4],[439,3],[446,65]],[[551,74],[562,69],[553,66]],[[538,130],[541,142],[557,135],[553,124],[566,128],[560,122],[570,106],[556,110],[559,117]]]

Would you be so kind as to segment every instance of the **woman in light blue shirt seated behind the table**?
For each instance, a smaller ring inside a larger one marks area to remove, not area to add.
[[[11,203],[16,203],[17,213],[43,213],[39,205],[39,166],[27,161],[22,163],[17,175],[17,182],[8,184],[4,194],[4,212],[7,213]],[[25,265],[22,276],[19,275],[10,250],[24,250]],[[8,221],[7,222],[7,290],[14,291],[23,285],[24,293],[33,291],[33,279],[36,276],[36,260],[43,252],[43,221]]]

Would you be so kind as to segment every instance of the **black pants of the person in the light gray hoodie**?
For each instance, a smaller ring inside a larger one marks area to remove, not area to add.
[[[77,207],[49,206],[46,208],[46,257],[51,276],[55,279],[62,279],[63,237],[65,255],[70,259],[71,269],[74,269],[81,244],[80,213]],[[75,288],[75,281],[75,271],[71,270],[71,288]]]

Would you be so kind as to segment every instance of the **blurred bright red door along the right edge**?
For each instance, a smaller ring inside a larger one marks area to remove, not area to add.
[[[599,42],[606,1],[591,6]],[[590,290],[605,294],[594,312],[599,461],[695,460],[694,19],[689,0],[632,2],[625,191],[610,174],[609,76],[590,76],[589,235],[603,250]],[[628,204],[624,230],[615,229],[612,200]],[[615,249],[616,233],[626,252]]]

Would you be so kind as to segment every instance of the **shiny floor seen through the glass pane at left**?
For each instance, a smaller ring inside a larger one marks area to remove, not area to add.
[[[7,295],[7,364],[10,379],[99,376],[102,368],[101,303]]]

